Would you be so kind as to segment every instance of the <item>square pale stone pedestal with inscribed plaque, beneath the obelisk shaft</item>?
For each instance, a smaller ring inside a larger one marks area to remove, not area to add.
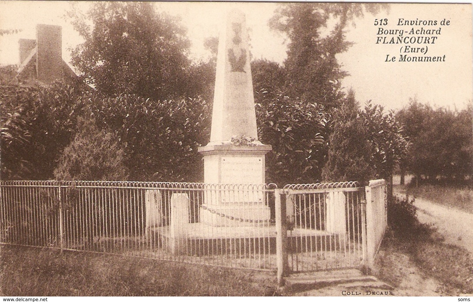
[[[199,148],[204,155],[204,182],[216,184],[205,191],[201,222],[230,226],[269,221],[263,184],[264,154],[270,150],[266,145]]]

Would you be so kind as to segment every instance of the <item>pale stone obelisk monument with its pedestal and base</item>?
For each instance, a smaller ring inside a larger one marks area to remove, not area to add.
[[[199,148],[204,157],[204,182],[265,183],[264,155],[271,146],[258,140],[248,33],[245,14],[238,10],[228,12],[225,29],[219,36],[211,127],[210,143]],[[238,203],[253,204],[254,214],[242,212]],[[264,206],[262,197],[214,198],[204,206],[226,211],[228,216],[269,219],[269,207]]]

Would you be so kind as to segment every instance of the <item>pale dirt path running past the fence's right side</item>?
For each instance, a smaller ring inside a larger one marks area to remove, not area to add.
[[[435,225],[445,242],[464,247],[473,255],[473,214],[418,197],[414,205],[421,223]]]

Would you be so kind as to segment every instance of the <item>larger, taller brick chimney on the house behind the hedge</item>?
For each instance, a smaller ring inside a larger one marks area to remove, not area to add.
[[[62,78],[61,26],[38,24],[36,26],[36,46],[36,78],[45,84]]]

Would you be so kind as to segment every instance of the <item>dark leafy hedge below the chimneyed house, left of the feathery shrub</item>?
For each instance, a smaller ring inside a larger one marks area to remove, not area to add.
[[[77,117],[83,109],[80,98],[84,94],[87,91],[81,87],[61,82],[51,86],[2,86],[0,102],[6,113],[12,114],[2,128],[8,129],[5,131],[15,139],[9,142],[8,135],[2,137],[2,173],[5,173],[2,179],[53,177],[62,149],[74,137]],[[21,128],[13,133],[13,125]]]

